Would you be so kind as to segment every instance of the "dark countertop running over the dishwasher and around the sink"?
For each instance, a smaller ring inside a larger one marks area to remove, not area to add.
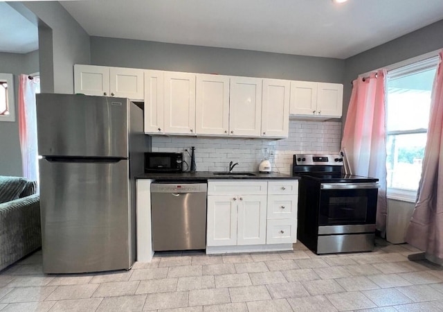
[[[250,172],[250,171],[248,171]],[[158,181],[183,181],[183,180],[257,180],[257,179],[282,179],[298,180],[300,177],[291,177],[283,173],[259,173],[251,172],[255,175],[215,175],[212,171],[197,171],[195,173],[145,173],[136,175],[136,179],[151,179]]]

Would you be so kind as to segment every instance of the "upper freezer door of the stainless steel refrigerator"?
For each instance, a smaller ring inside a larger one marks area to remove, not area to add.
[[[39,155],[128,157],[126,98],[37,94]]]

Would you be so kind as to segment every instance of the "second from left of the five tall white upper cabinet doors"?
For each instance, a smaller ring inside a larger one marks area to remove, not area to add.
[[[195,74],[165,71],[165,132],[195,134]]]

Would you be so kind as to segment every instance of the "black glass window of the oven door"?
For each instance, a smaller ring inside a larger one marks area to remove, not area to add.
[[[377,189],[321,191],[319,225],[374,224]]]

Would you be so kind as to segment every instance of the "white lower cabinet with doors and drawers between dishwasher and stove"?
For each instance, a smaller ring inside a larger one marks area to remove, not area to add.
[[[206,252],[291,250],[297,202],[298,181],[209,180]]]

